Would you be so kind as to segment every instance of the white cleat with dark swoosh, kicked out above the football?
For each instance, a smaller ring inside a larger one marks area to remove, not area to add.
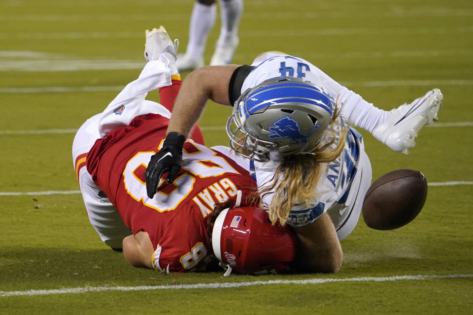
[[[396,152],[408,153],[415,146],[414,138],[419,130],[438,117],[443,95],[439,89],[427,92],[410,104],[390,111],[388,120],[373,130],[373,136]]]

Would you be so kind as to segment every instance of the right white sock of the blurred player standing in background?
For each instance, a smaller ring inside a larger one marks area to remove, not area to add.
[[[238,36],[238,25],[241,13],[243,13],[243,0],[219,0],[219,5],[222,27],[217,42],[223,43]]]

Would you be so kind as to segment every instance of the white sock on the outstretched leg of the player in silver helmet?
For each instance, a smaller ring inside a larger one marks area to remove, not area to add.
[[[340,94],[341,99],[345,99],[340,115],[353,125],[363,128],[370,133],[384,123],[389,116],[389,112],[375,107],[368,103],[360,95],[343,88]]]

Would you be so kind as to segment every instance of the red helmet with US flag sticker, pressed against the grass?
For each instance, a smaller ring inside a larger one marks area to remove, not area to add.
[[[223,210],[215,220],[212,247],[215,256],[242,274],[277,273],[296,255],[297,237],[287,226],[271,224],[258,207]]]

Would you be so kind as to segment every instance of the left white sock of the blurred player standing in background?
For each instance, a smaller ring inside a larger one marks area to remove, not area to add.
[[[189,25],[189,42],[186,49],[186,55],[191,59],[200,60],[203,58],[208,34],[215,24],[216,12],[215,3],[205,5],[197,1],[194,2]]]

